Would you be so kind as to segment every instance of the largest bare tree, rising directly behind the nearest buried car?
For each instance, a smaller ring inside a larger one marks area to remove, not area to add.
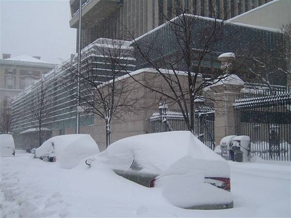
[[[182,1],[175,0],[172,13],[176,17],[169,19],[163,15],[167,21],[163,27],[164,38],[160,37],[162,31],[157,30],[149,33],[151,35],[146,39],[132,37],[132,42],[137,50],[138,64],[155,69],[156,76],[162,77],[163,86],[170,92],[163,92],[163,87],[153,87],[149,81],[136,82],[177,104],[188,130],[194,132],[195,99],[201,97],[204,88],[224,80],[231,71],[206,66],[216,61],[223,46],[219,42],[226,39],[224,22],[216,19],[216,10],[212,7],[214,18],[209,21],[188,14],[188,8]],[[185,76],[186,82],[181,76]]]

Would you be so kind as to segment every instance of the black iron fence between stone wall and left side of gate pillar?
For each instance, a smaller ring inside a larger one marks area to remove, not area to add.
[[[214,105],[199,104],[195,109],[194,135],[210,149],[214,150]],[[187,131],[182,112],[179,109],[168,109],[160,104],[159,110],[153,111],[150,117],[151,132]]]

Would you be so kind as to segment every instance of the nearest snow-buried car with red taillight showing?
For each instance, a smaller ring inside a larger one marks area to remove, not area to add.
[[[85,163],[93,169],[105,165],[135,183],[161,188],[163,196],[181,208],[233,207],[228,163],[189,131],[118,140]]]

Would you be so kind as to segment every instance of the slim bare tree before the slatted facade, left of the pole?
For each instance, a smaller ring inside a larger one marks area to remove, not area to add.
[[[44,80],[41,79],[37,84],[37,87],[32,94],[31,105],[29,109],[32,111],[33,119],[37,121],[37,131],[39,146],[42,144],[42,131],[45,127],[45,119],[49,119],[51,114],[51,97],[48,92],[49,85],[44,84]]]

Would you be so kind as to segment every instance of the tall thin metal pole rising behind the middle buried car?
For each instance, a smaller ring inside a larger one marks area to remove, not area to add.
[[[77,78],[77,106],[76,106],[76,134],[79,134],[79,107],[80,106],[80,73],[81,73],[81,17],[82,17],[82,0],[79,5],[79,39],[78,39],[78,78]]]

